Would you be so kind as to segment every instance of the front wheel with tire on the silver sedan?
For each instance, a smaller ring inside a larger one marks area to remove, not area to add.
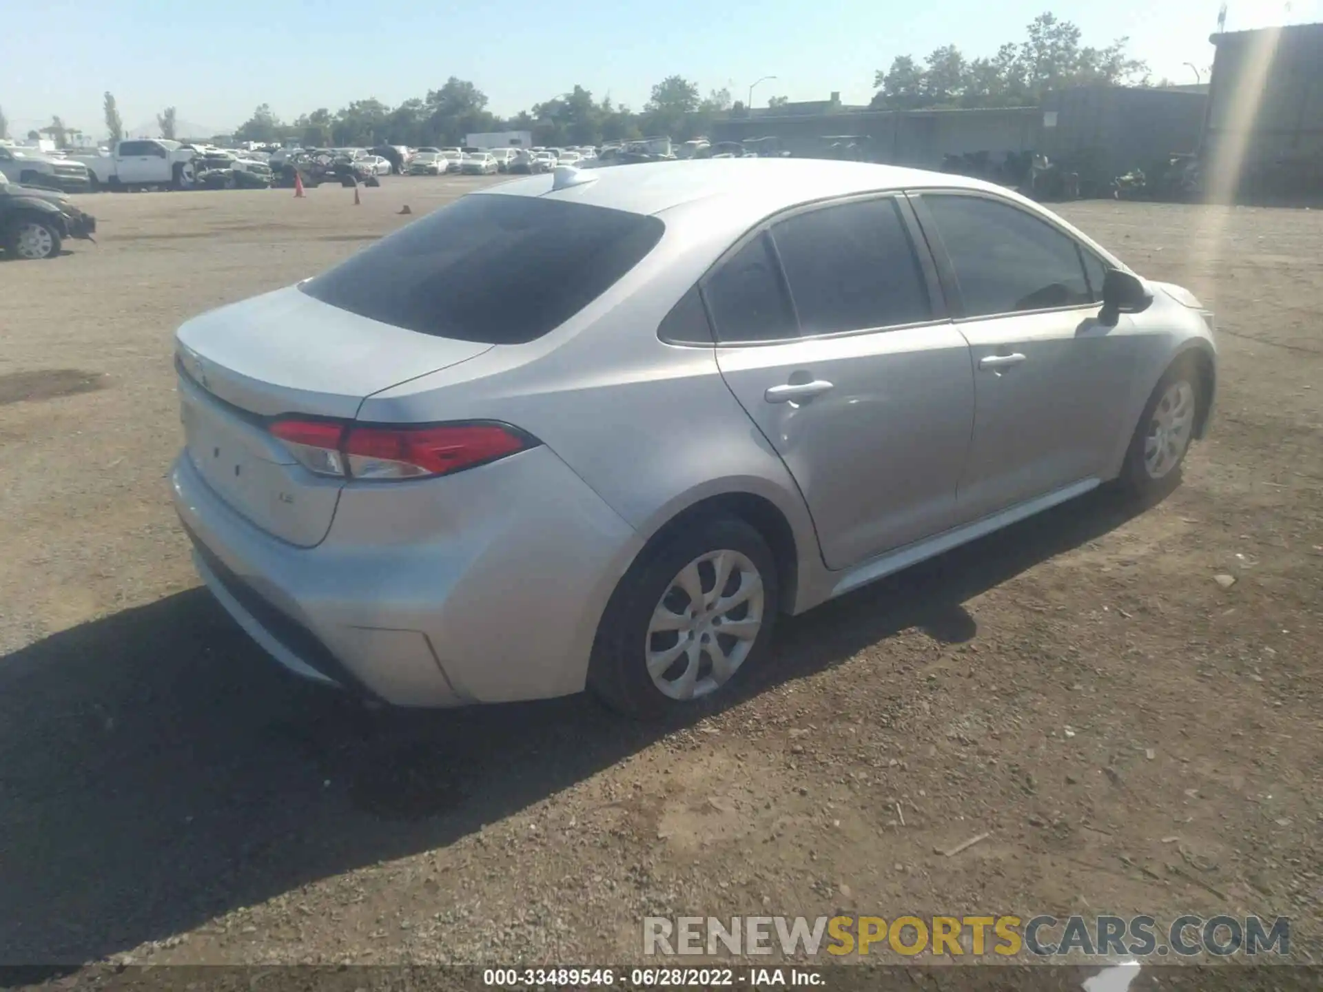
[[[1193,362],[1177,361],[1154,386],[1126,450],[1119,483],[1138,500],[1162,499],[1180,485],[1195,435],[1201,381]]]

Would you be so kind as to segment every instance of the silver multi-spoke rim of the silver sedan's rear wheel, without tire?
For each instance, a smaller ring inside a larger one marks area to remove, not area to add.
[[[646,638],[652,684],[672,700],[716,692],[740,669],[763,623],[763,581],[734,550],[699,556],[671,579]]]

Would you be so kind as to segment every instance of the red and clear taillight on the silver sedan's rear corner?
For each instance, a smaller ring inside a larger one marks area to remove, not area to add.
[[[277,421],[271,434],[312,472],[351,479],[450,475],[532,447],[528,435],[499,423],[431,427],[357,427],[329,421]]]

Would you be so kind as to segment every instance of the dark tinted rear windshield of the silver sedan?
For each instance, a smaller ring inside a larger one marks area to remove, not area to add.
[[[332,307],[425,335],[524,344],[606,292],[664,230],[656,217],[480,193],[299,288]]]

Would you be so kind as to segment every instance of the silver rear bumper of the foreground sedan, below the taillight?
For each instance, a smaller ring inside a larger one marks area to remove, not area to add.
[[[405,706],[578,692],[634,530],[552,451],[347,485],[325,541],[239,517],[187,455],[175,505],[202,579],[286,668]]]

